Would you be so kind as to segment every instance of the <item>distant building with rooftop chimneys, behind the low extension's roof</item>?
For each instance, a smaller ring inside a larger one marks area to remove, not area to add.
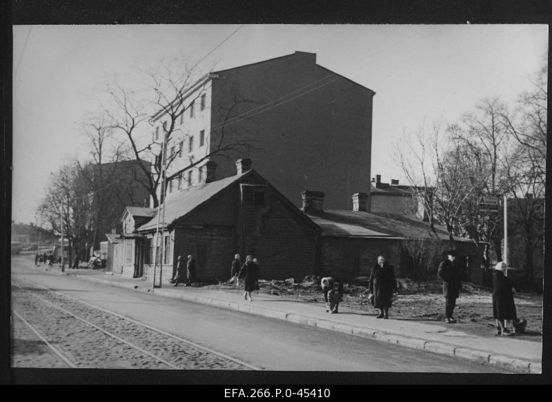
[[[391,180],[391,183],[382,183],[382,176],[376,174],[371,182],[368,211],[404,214],[427,221],[428,216],[422,194],[431,194],[431,190],[431,188],[400,185],[397,179]],[[431,196],[428,199],[431,199]]]

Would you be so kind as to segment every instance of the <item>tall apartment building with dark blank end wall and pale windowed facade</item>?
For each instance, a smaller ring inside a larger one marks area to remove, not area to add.
[[[351,194],[370,192],[374,94],[306,52],[206,74],[185,94],[187,110],[167,145],[168,174],[228,149],[170,181],[167,201],[213,172],[232,176],[235,160],[247,158],[297,206],[299,194],[317,190],[328,208],[351,208]],[[152,121],[162,141],[168,116]]]

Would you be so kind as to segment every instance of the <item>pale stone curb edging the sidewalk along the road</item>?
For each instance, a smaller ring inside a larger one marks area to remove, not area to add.
[[[51,271],[53,272],[53,271]],[[57,273],[57,272],[54,272]],[[59,272],[59,274],[62,274]],[[67,272],[63,274],[69,275]],[[94,277],[87,277],[79,274],[70,274],[70,276],[77,279],[83,279],[91,282],[104,283],[107,285],[117,286],[119,288],[127,288],[137,290],[139,292],[146,292],[157,294],[161,297],[170,297],[172,299],[183,299],[187,301],[193,301],[196,303],[213,305],[217,308],[226,308],[228,310],[235,310],[239,312],[246,312],[248,314],[266,316],[270,319],[280,319],[290,321],[291,323],[297,323],[301,325],[308,325],[315,328],[321,328],[324,330],[332,330],[335,332],[342,332],[344,334],[351,334],[354,336],[360,336],[362,338],[373,339],[375,341],[381,341],[386,343],[393,343],[395,345],[402,346],[404,348],[425,350],[433,354],[440,354],[442,356],[453,357],[455,359],[462,359],[472,361],[474,363],[480,363],[484,365],[491,365],[497,368],[504,368],[506,370],[512,370],[515,372],[522,372],[526,374],[542,374],[542,363],[535,363],[533,361],[525,361],[522,359],[516,359],[514,357],[504,356],[500,354],[491,354],[482,350],[473,350],[468,348],[458,348],[455,345],[449,343],[442,343],[437,341],[426,341],[424,339],[408,338],[400,334],[393,334],[391,332],[383,332],[381,330],[374,330],[366,327],[355,327],[350,324],[336,323],[335,321],[329,321],[324,319],[315,319],[310,316],[303,316],[300,314],[291,314],[281,312],[278,310],[270,310],[267,308],[259,308],[257,306],[244,305],[242,303],[235,303],[230,301],[221,301],[217,299],[210,299],[207,297],[200,297],[193,294],[175,294],[173,292],[167,292],[164,289],[153,290],[143,285],[134,285],[128,283],[117,283],[109,281],[107,279],[99,279]]]

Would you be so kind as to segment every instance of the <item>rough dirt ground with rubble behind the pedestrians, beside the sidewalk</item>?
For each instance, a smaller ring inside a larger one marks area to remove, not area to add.
[[[368,278],[357,278],[353,283],[344,284],[343,301],[340,305],[355,310],[379,313],[368,303]],[[259,281],[259,293],[297,299],[304,302],[324,302],[324,294],[319,286],[318,277],[306,277],[300,283],[286,281]],[[393,303],[389,314],[394,319],[419,320],[424,323],[444,323],[444,297],[442,281],[434,279],[417,283],[410,279],[398,278],[399,286],[397,301]],[[238,292],[233,284],[200,285],[203,288]],[[243,289],[243,285],[240,286]],[[525,334],[513,336],[528,341],[542,342],[542,294],[517,293],[515,306],[518,318],[527,320]],[[482,286],[464,283],[457,299],[455,318],[458,330],[480,336],[495,334],[493,320],[493,302],[491,290]]]

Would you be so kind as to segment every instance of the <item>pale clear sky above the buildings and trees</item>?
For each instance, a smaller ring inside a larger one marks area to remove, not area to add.
[[[128,77],[185,54],[197,72],[295,51],[376,92],[371,175],[404,176],[393,163],[403,132],[453,122],[480,99],[514,105],[548,49],[545,25],[86,25],[13,27],[12,219],[35,210],[50,174],[88,157],[81,122],[97,108],[106,74]]]

